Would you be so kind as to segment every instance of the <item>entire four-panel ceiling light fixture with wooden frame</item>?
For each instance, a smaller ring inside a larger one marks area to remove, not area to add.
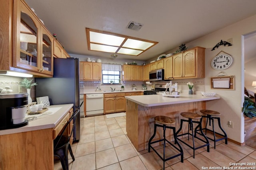
[[[138,56],[158,42],[86,28],[88,50]]]

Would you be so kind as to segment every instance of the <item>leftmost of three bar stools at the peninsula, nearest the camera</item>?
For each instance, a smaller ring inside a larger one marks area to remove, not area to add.
[[[172,158],[175,158],[175,157],[178,157],[180,156],[180,161],[183,162],[183,150],[180,146],[180,144],[178,143],[177,141],[177,138],[176,138],[176,133],[175,133],[175,127],[172,127],[172,126],[166,126],[166,125],[174,125],[176,122],[174,119],[170,118],[170,117],[167,117],[167,116],[156,116],[154,117],[154,120],[155,120],[155,123],[154,123],[154,134],[152,135],[152,137],[149,139],[148,141],[148,152],[150,152],[150,148],[152,148],[156,154],[163,160],[163,162],[167,161],[167,160],[170,160]],[[162,125],[158,125],[156,124],[157,123],[160,123]],[[154,141],[154,142],[151,142],[152,139],[155,137],[156,135],[156,127],[162,127],[163,130],[164,130],[164,139],[160,139],[158,141]],[[172,143],[170,143],[170,141],[168,141],[166,138],[165,138],[165,131],[166,131],[166,128],[168,129],[172,129],[173,130],[173,136],[174,136],[174,144],[177,144],[178,147],[176,147],[175,145],[173,145]],[[153,143],[157,143],[157,142],[160,142],[160,141],[164,141],[164,154],[163,154],[163,157],[160,156],[160,154],[158,154],[158,152],[151,146],[151,144]],[[178,150],[180,153],[174,155],[174,156],[171,156],[169,158],[165,158],[165,142],[168,142],[170,145],[172,145],[172,147],[174,147],[176,150]]]

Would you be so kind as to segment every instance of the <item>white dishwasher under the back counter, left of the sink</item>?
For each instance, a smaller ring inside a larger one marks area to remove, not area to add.
[[[103,93],[86,94],[86,116],[103,114]]]

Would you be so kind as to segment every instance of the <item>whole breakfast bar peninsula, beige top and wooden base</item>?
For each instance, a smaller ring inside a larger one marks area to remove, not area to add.
[[[180,94],[179,97],[164,97],[161,94],[125,96],[126,98],[126,132],[134,147],[138,150],[148,149],[148,141],[154,133],[154,117],[165,115],[175,119],[176,129],[180,127],[180,113],[199,113],[206,109],[206,102],[220,99],[219,96]],[[204,126],[205,122],[202,122]],[[188,125],[183,125],[181,133],[187,132]],[[161,139],[162,131],[156,133],[154,141]],[[172,141],[170,129],[166,129],[166,139]],[[160,145],[161,143],[155,143]]]

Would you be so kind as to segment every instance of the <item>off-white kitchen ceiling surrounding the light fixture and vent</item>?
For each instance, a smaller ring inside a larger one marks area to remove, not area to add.
[[[118,55],[138,61],[256,14],[256,0],[25,1],[68,53],[110,58],[111,53],[88,51],[86,27],[159,42],[137,57]],[[129,21],[144,26],[139,31],[126,29]]]

